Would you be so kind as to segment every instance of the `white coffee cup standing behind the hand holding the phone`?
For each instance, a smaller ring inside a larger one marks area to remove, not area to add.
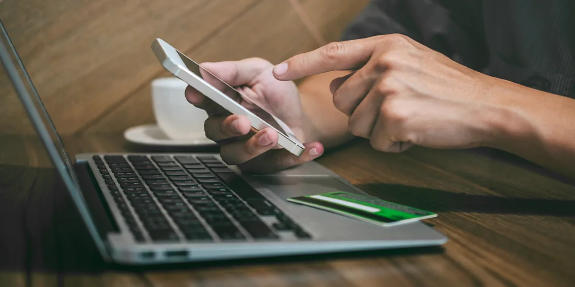
[[[171,139],[205,138],[204,121],[208,114],[187,102],[187,83],[177,77],[152,80],[152,106],[156,122]]]

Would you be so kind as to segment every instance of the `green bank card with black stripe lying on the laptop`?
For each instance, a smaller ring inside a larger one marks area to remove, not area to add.
[[[430,211],[343,191],[290,197],[287,201],[309,205],[380,226],[393,226],[437,216]]]

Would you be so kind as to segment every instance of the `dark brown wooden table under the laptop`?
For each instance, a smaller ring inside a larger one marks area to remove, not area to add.
[[[121,135],[68,152],[139,152]],[[359,141],[321,164],[372,195],[438,212],[442,248],[146,268],[105,265],[39,142],[0,136],[0,286],[573,286],[575,184],[509,154]]]

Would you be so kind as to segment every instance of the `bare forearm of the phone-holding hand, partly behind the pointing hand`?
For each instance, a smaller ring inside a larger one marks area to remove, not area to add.
[[[299,86],[302,105],[310,125],[306,141],[320,141],[325,148],[343,144],[353,138],[347,127],[348,117],[333,106],[329,83],[348,72],[333,71],[310,76]]]

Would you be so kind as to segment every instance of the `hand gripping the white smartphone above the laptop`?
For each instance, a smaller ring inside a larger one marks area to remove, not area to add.
[[[274,114],[289,126],[294,134],[305,142],[310,138],[306,126],[300,95],[293,82],[280,82],[271,72],[273,65],[263,59],[245,59],[220,63],[203,63],[202,67],[212,72],[230,86],[237,87],[246,98],[241,98],[234,90],[214,81],[209,73],[202,75],[206,82],[223,90],[244,107],[257,108],[254,103]],[[206,137],[220,145],[220,155],[229,165],[238,165],[240,169],[269,173],[303,164],[319,157],[324,149],[319,142],[304,144],[305,152],[301,157],[294,156],[277,146],[278,133],[266,128],[249,134],[250,119],[244,115],[230,115],[212,100],[206,98],[194,88],[186,88],[186,99],[194,106],[204,109],[208,119],[204,123]]]

